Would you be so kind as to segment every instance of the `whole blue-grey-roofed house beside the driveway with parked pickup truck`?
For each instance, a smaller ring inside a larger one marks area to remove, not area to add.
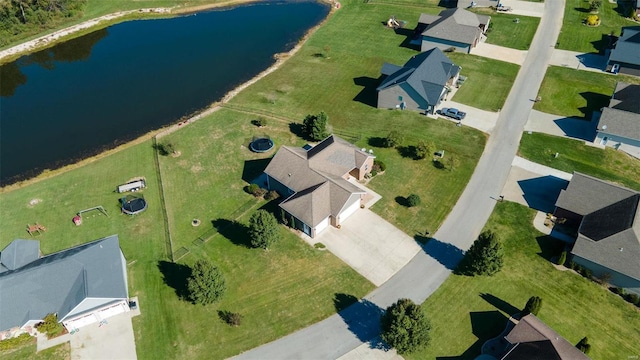
[[[456,84],[461,67],[440,49],[432,48],[407,61],[404,66],[385,63],[386,77],[376,89],[378,108],[424,110],[433,114]]]

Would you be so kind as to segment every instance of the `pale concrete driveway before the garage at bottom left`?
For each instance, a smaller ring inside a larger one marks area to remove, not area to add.
[[[131,316],[138,311],[112,316],[106,325],[91,324],[71,335],[71,359],[137,359]]]

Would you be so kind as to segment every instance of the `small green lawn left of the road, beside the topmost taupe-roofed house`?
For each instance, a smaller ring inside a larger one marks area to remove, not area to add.
[[[529,49],[540,23],[538,17],[504,14],[487,8],[476,8],[473,12],[491,16],[486,40],[488,44],[517,50]]]

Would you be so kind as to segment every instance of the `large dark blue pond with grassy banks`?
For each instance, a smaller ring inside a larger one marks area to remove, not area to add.
[[[131,21],[1,66],[0,186],[207,107],[328,13],[315,1],[266,1]]]

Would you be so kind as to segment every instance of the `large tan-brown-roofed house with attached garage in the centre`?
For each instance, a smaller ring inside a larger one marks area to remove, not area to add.
[[[285,198],[289,225],[315,237],[360,209],[366,191],[348,180],[364,179],[374,158],[335,135],[308,149],[283,146],[264,170],[267,188]]]

